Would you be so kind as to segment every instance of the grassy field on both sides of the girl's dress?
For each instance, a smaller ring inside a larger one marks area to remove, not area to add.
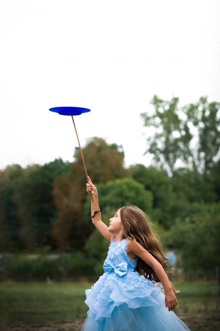
[[[80,330],[91,283],[0,283],[1,330]],[[215,283],[174,283],[180,290],[175,313],[192,331],[220,330]]]

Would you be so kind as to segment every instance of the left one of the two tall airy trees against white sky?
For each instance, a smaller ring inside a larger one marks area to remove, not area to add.
[[[172,173],[177,159],[185,155],[189,148],[189,141],[192,136],[189,128],[178,114],[179,98],[173,97],[170,101],[164,101],[154,95],[151,104],[154,112],[142,113],[146,127],[154,127],[155,133],[150,136],[147,152],[153,154],[156,164]],[[185,144],[181,140],[184,137]],[[184,149],[184,153],[181,150]],[[187,153],[188,154],[188,153]]]

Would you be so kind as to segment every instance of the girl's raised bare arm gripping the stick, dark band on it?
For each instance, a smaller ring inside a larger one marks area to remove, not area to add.
[[[106,238],[109,242],[112,240],[112,234],[109,232],[108,226],[103,223],[101,212],[99,212],[99,201],[98,201],[98,191],[95,185],[93,185],[91,179],[88,176],[88,183],[86,184],[86,191],[91,194],[91,219],[92,223],[95,225],[97,230],[101,233],[101,235]],[[98,213],[95,213],[98,212]]]

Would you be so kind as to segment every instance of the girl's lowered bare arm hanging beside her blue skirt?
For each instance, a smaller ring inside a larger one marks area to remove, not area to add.
[[[127,253],[133,253],[137,255],[141,260],[147,263],[152,269],[154,269],[157,277],[161,281],[166,296],[165,296],[165,304],[166,307],[170,310],[173,310],[177,305],[177,300],[175,294],[173,293],[173,289],[169,282],[166,272],[162,265],[149,253],[147,252],[139,243],[131,243],[129,240],[127,241],[128,251]]]

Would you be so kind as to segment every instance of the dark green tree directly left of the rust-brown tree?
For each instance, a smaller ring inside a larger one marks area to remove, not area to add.
[[[44,166],[27,167],[16,181],[13,201],[24,247],[52,246],[51,229],[57,213],[52,197],[53,181],[68,169],[68,162],[57,159]]]

